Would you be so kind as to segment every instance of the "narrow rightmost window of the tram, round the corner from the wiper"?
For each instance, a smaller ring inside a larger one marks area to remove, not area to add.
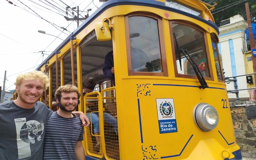
[[[217,77],[219,80],[224,81],[223,73],[222,73],[222,58],[218,50],[218,44],[217,44],[217,38],[211,34],[211,40],[212,40],[212,52],[214,56],[214,62],[215,62],[215,68],[217,72]]]

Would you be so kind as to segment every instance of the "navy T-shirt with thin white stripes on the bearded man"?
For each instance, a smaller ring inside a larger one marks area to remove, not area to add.
[[[76,141],[84,140],[84,128],[78,116],[64,118],[53,112],[44,135],[44,160],[75,160]]]

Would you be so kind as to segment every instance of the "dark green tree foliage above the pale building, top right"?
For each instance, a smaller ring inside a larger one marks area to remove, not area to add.
[[[204,2],[213,5],[217,3],[212,15],[215,23],[220,26],[220,21],[229,19],[230,17],[240,14],[246,18],[245,3],[249,3],[249,9],[252,22],[256,20],[256,1],[255,0],[205,0]]]

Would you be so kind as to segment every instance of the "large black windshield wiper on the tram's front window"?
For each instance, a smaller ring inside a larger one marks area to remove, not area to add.
[[[194,60],[192,59],[192,57],[189,55],[188,50],[180,49],[180,52],[183,53],[183,55],[187,58],[187,60],[189,61],[189,63],[192,65],[192,67],[193,67],[193,69],[194,69],[194,71],[195,71],[195,73],[196,73],[197,79],[198,79],[199,83],[201,84],[201,85],[199,86],[199,88],[200,88],[200,89],[201,89],[201,88],[204,89],[204,88],[209,87],[209,86],[207,85],[206,81],[204,80],[204,76],[203,76],[202,73],[200,72],[200,70],[199,70],[198,66],[196,65],[195,61],[194,61]],[[186,56],[185,53],[187,54],[187,56]]]

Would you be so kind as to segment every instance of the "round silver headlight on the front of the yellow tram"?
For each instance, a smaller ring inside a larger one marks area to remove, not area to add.
[[[219,123],[219,116],[216,109],[207,103],[199,103],[194,108],[194,121],[203,131],[211,131]]]

